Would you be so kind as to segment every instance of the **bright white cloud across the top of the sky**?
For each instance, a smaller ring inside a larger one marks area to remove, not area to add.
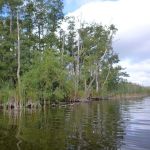
[[[83,5],[70,15],[82,15],[84,20],[89,22],[114,23],[119,32],[125,33],[135,29],[135,26],[137,28],[150,25],[149,4],[149,0],[94,1]]]

